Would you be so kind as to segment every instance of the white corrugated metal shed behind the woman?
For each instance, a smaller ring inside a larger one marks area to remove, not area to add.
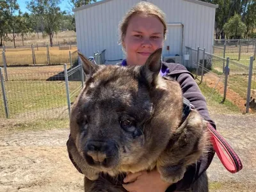
[[[85,56],[106,49],[106,60],[124,58],[118,45],[118,24],[125,13],[139,0],[103,0],[74,9],[77,49]],[[163,56],[183,63],[185,47],[212,52],[215,12],[218,5],[196,0],[148,0],[166,14],[168,34]],[[169,50],[167,47],[169,46]],[[168,57],[166,57],[168,56]],[[175,59],[174,59],[175,60]]]

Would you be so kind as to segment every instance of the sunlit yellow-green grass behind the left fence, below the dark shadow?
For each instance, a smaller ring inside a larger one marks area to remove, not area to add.
[[[81,82],[72,81],[69,86],[73,92]],[[6,81],[5,88],[10,118],[57,118],[67,110],[65,81]],[[0,106],[0,118],[4,118],[3,99]]]

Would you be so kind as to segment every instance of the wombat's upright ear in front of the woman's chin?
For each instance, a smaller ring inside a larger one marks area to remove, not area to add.
[[[161,55],[162,48],[159,48],[148,57],[145,65],[143,65],[141,68],[143,76],[146,77],[148,83],[150,84],[156,79],[161,70]]]

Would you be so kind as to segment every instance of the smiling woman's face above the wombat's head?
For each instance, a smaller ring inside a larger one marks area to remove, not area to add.
[[[122,45],[127,65],[144,65],[148,56],[164,43],[164,26],[157,17],[134,15],[129,21]]]

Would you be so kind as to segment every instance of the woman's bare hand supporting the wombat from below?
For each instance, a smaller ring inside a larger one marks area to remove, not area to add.
[[[161,180],[160,173],[157,170],[151,172],[129,173],[123,184],[127,191],[132,192],[164,192],[171,185]]]

